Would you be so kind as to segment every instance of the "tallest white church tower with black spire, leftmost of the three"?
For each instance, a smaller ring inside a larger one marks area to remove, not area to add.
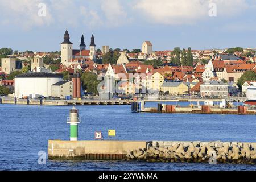
[[[61,43],[61,64],[68,65],[73,58],[73,43],[69,41],[68,30],[65,31],[64,41]]]

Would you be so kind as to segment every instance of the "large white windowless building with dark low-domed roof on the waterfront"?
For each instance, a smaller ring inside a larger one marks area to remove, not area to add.
[[[52,94],[52,85],[63,80],[63,75],[53,73],[26,73],[15,77],[15,97],[48,97]]]

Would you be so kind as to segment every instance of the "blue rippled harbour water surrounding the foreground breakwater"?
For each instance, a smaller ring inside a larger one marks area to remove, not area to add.
[[[147,106],[156,107],[155,103]],[[38,164],[49,139],[69,140],[72,106],[0,105],[1,170],[255,170],[256,165],[56,161]],[[77,106],[79,140],[115,129],[118,140],[222,140],[256,142],[255,115],[131,113],[130,106]]]

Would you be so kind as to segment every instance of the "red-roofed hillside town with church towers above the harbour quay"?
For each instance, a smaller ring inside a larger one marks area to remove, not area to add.
[[[246,97],[247,88],[256,82],[256,48],[154,51],[153,44],[144,41],[141,49],[130,51],[109,45],[99,49],[96,43],[92,35],[86,49],[82,35],[75,46],[66,30],[60,51],[0,49],[1,95]]]

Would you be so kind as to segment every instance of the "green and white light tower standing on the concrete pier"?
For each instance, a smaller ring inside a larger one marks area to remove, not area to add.
[[[67,123],[70,124],[70,140],[77,141],[78,123],[81,123],[81,118],[79,118],[79,110],[77,110],[75,107],[69,110],[69,117],[67,118]]]

